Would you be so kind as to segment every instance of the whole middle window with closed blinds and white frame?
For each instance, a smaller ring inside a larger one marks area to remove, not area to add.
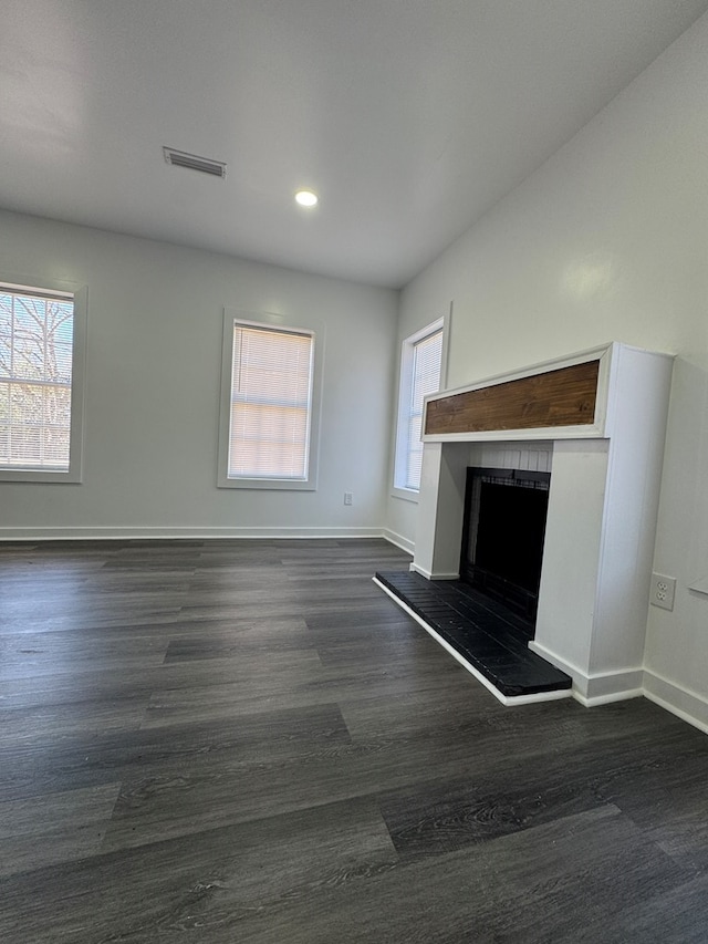
[[[225,315],[219,486],[315,488],[319,345],[282,321]]]

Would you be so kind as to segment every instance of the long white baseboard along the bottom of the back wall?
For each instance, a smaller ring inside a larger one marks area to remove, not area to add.
[[[102,541],[102,540],[208,540],[219,539],[336,539],[385,538],[382,528],[195,528],[195,527],[96,527],[96,528],[0,528],[0,541]]]

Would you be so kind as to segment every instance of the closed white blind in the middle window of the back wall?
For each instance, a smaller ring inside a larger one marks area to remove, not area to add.
[[[233,323],[228,478],[305,480],[312,332]]]

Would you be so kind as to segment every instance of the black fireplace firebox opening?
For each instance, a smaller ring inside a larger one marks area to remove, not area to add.
[[[460,580],[529,621],[541,582],[550,473],[468,468]]]

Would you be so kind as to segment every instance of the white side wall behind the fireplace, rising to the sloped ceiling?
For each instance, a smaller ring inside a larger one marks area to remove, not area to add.
[[[608,341],[678,355],[655,557],[678,588],[646,685],[708,724],[706,89],[708,17],[404,290],[398,336],[451,300],[450,387]],[[388,526],[412,540],[415,506]]]

